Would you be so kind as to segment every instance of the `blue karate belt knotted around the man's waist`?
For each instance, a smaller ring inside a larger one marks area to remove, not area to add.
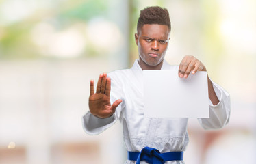
[[[140,163],[140,161],[146,161],[150,164],[164,164],[165,161],[182,161],[183,152],[165,152],[160,153],[155,148],[145,147],[140,152],[129,152],[128,159]]]

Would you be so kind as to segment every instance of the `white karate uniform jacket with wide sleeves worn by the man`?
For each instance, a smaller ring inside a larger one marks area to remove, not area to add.
[[[172,69],[177,69],[177,66],[170,66],[164,61],[162,70]],[[140,152],[145,146],[156,148],[161,153],[185,151],[189,141],[188,118],[144,118],[142,75],[138,60],[134,62],[131,69],[110,72],[108,74],[111,78],[110,101],[113,103],[121,99],[123,102],[110,118],[101,119],[92,115],[90,111],[86,113],[82,119],[84,130],[90,135],[97,135],[110,128],[116,120],[120,120],[123,124],[123,139],[128,151]],[[220,102],[218,105],[212,105],[209,100],[209,118],[198,119],[205,129],[222,128],[229,122],[229,94],[214,82],[213,86]],[[125,163],[135,162],[127,160]],[[166,163],[184,162],[167,161]]]

